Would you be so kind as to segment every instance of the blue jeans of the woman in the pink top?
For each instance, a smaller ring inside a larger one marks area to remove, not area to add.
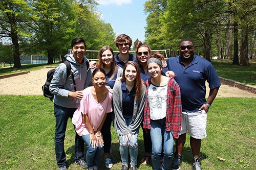
[[[101,147],[99,143],[99,147],[93,148],[92,144],[90,145],[90,134],[83,135],[82,139],[86,143],[88,148],[86,153],[86,162],[88,168],[98,167],[103,153],[103,146]]]

